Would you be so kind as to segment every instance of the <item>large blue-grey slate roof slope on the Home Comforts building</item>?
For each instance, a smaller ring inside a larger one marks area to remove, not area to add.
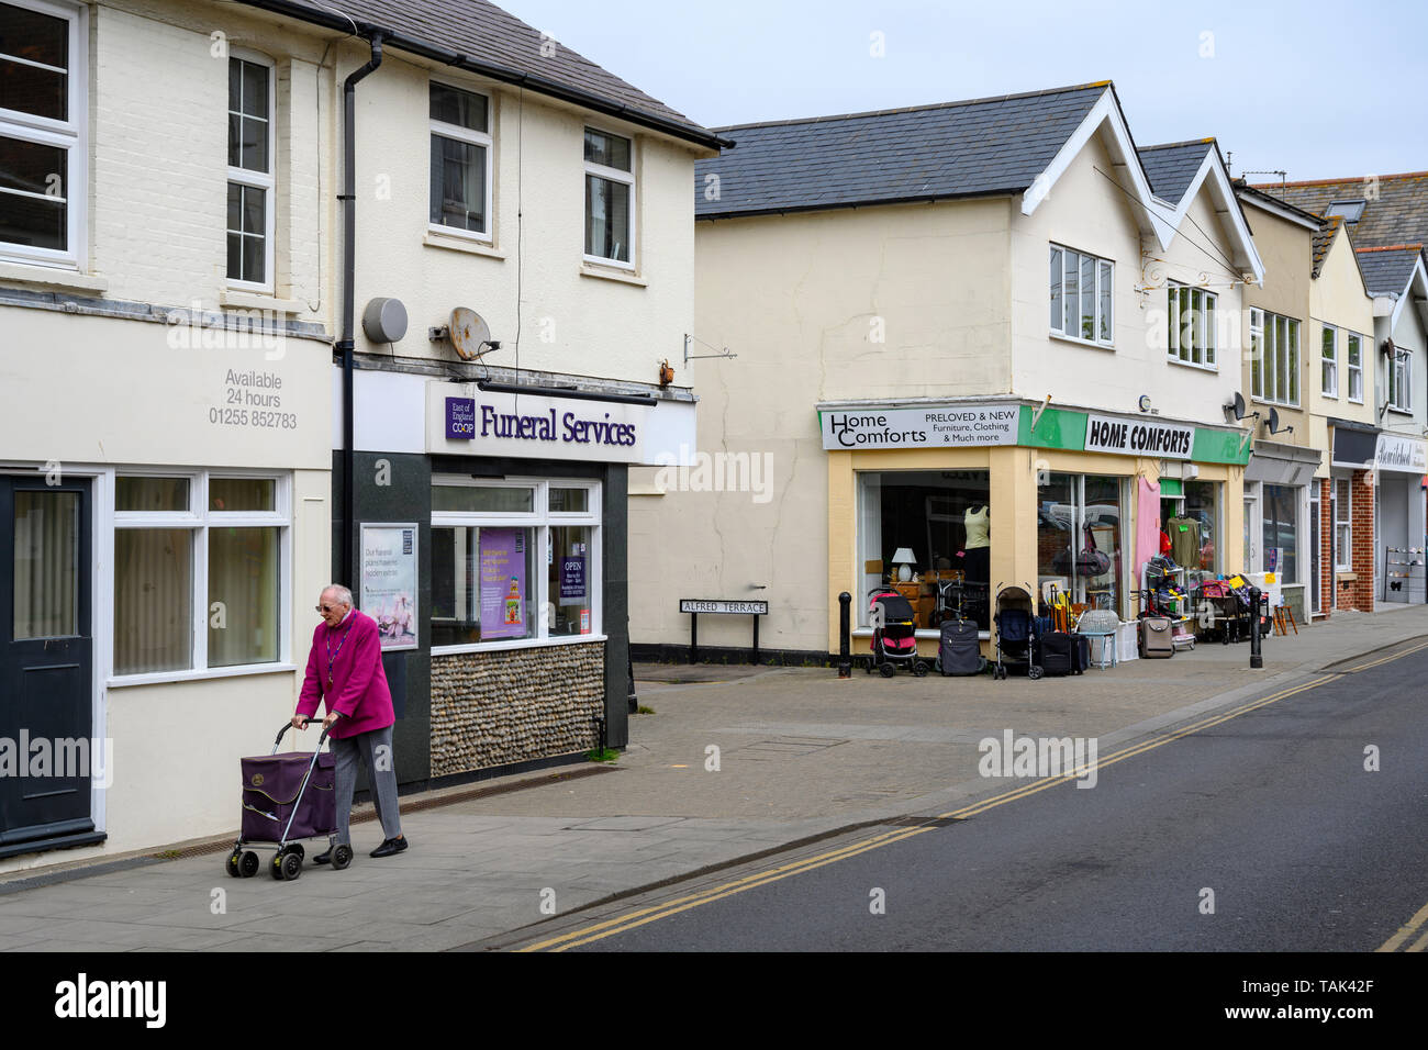
[[[695,164],[695,214],[801,211],[1021,193],[1110,81],[997,99],[714,129],[738,146]],[[707,176],[720,199],[705,200]]]

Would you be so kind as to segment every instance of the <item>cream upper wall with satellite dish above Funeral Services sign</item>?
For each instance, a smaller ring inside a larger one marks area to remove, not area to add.
[[[344,47],[337,81],[367,57],[364,47]],[[490,247],[427,234],[433,79],[491,99]],[[587,123],[635,141],[633,274],[581,261]],[[488,364],[517,363],[520,324],[523,369],[657,381],[661,359],[681,363],[694,309],[697,156],[705,154],[631,124],[564,109],[530,91],[523,100],[514,89],[388,51],[357,86],[357,316],[360,321],[370,299],[396,296],[407,307],[410,327],[390,347],[368,343],[358,324],[357,349],[456,360],[450,346],[427,339],[427,329],[446,324],[453,307],[468,306],[504,344],[486,357]],[[340,227],[331,230],[331,257],[340,259]],[[685,386],[688,377],[678,374],[675,383]]]

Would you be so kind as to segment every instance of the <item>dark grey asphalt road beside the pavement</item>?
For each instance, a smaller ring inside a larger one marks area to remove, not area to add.
[[[990,780],[954,814],[568,917],[527,946],[1371,951],[1428,903],[1425,680],[1422,646],[1361,657],[1102,753],[1090,790]],[[1394,947],[1425,943],[1414,929]]]

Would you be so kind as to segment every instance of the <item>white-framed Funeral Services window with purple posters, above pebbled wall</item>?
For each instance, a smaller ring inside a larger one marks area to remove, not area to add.
[[[440,651],[600,633],[600,486],[438,479],[431,646]]]

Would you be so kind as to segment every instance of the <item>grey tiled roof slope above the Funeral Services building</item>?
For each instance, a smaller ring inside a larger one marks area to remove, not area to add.
[[[555,43],[554,56],[541,54],[540,30],[527,26],[514,14],[487,0],[240,0],[250,7],[286,14],[288,17],[353,31],[358,27],[381,29],[398,34],[391,47],[423,53],[427,49],[446,53],[431,54],[450,60],[473,71],[497,80],[524,83],[534,91],[561,96],[575,93],[590,100],[607,103],[604,109],[634,123],[661,127],[680,137],[715,144],[713,136],[683,113],[625,83],[615,74]],[[346,16],[346,17],[344,17]],[[581,101],[570,97],[571,101]],[[628,113],[617,113],[628,110]],[[643,120],[641,117],[647,117]]]

